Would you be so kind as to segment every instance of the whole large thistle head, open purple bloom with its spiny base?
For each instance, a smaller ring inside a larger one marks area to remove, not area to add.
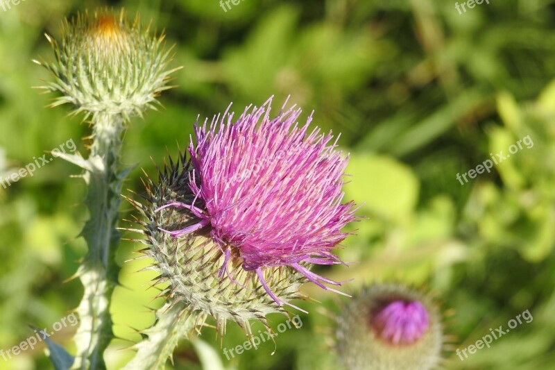
[[[332,136],[307,134],[310,119],[299,128],[300,110],[270,119],[270,108],[268,99],[234,123],[226,111],[196,126],[190,160],[170,160],[157,185],[148,180],[148,203],[132,201],[164,294],[247,334],[249,319],[287,314],[282,303],[303,298],[307,280],[340,285],[309,267],[341,263],[331,250],[355,219],[341,203],[347,160]]]

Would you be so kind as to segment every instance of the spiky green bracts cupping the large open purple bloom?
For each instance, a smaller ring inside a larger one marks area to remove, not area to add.
[[[287,312],[266,294],[257,274],[243,269],[237,258],[229,260],[229,278],[219,274],[225,253],[210,237],[210,231],[197,230],[187,237],[176,238],[160,230],[185,228],[198,221],[187,208],[160,209],[172,201],[194,201],[195,194],[189,187],[192,173],[185,155],[180,155],[176,162],[170,159],[160,171],[157,183],[147,178],[143,203],[128,199],[142,214],[135,220],[142,227],[133,230],[146,237],[137,241],[146,244],[142,253],[155,261],[149,269],[160,274],[157,283],[167,286],[160,296],[167,296],[171,305],[185,303],[184,310],[187,314],[196,312],[199,325],[207,316],[214,317],[221,335],[228,320],[237,322],[248,336],[252,335],[251,319],[262,321],[269,329],[267,314],[281,312],[287,316]],[[299,287],[306,279],[293,269],[273,267],[264,271],[264,278],[285,301],[305,298]]]

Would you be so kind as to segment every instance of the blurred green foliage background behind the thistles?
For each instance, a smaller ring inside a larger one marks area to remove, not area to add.
[[[318,273],[355,278],[343,289],[353,294],[391,280],[432,292],[446,313],[447,369],[553,369],[555,1],[492,0],[462,14],[455,2],[247,0],[224,12],[216,0],[26,0],[0,8],[0,174],[70,139],[87,153],[81,117],[45,108],[53,96],[31,88],[49,78],[31,59],[52,58],[43,33],[58,37],[64,17],[125,7],[165,29],[176,44],[173,66],[184,66],[178,87],[161,98],[165,108],[126,132],[124,162],[137,165],[129,189],[142,191],[141,167],[154,175],[154,162],[187,146],[197,115],[212,117],[231,101],[242,112],[271,94],[280,106],[290,94],[304,117],[314,110],[315,124],[341,133],[353,175],[345,192],[364,203],[366,218],[338,252],[359,263]],[[465,185],[456,180],[527,135],[530,149]],[[0,186],[0,348],[31,335],[28,324],[51,328],[80,301],[80,283],[67,281],[86,248],[77,237],[87,213],[76,174],[54,160]],[[123,205],[121,218],[130,212]],[[148,308],[161,304],[147,289],[153,275],[136,272],[148,261],[125,262],[137,249],[122,242],[119,251],[112,313],[120,339],[105,354],[110,369],[133,355],[126,347],[152,323]],[[213,328],[203,340],[227,369],[334,369],[333,317],[345,299],[308,285],[305,292],[321,303],[295,303],[310,314],[275,345],[228,361],[220,346],[244,342],[237,325],[222,344]],[[463,362],[454,355],[524,310],[531,323]],[[271,317],[274,328],[283,321]],[[72,348],[72,330],[53,339]],[[168,369],[201,368],[187,342],[173,361]],[[0,369],[50,367],[42,347],[0,359]]]

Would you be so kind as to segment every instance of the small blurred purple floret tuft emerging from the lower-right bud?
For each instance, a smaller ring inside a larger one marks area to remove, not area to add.
[[[394,345],[412,344],[429,328],[428,312],[418,301],[386,303],[372,318],[372,328],[384,341]]]

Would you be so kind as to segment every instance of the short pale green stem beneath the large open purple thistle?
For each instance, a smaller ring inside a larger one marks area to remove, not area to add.
[[[157,310],[154,325],[144,330],[148,338],[135,345],[135,358],[121,370],[164,369],[179,340],[194,329],[196,319],[197,314],[190,313],[185,303],[166,303]]]

